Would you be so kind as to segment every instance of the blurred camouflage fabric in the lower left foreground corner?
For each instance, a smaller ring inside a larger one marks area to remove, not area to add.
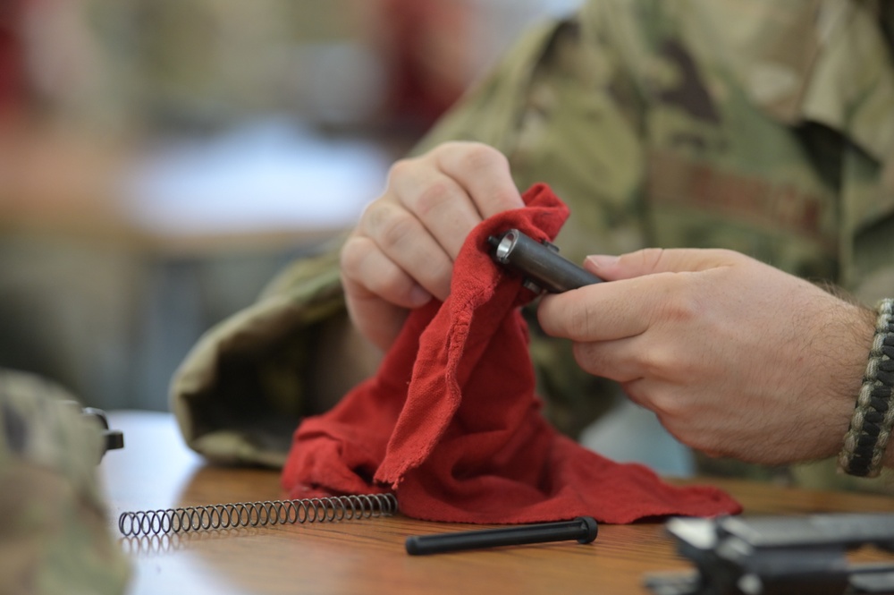
[[[97,484],[101,427],[59,387],[0,370],[0,593],[124,592]]]

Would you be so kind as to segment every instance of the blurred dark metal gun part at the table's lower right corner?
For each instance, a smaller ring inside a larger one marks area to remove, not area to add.
[[[676,518],[666,528],[696,573],[646,575],[655,595],[894,593],[894,565],[847,557],[894,551],[894,514]]]

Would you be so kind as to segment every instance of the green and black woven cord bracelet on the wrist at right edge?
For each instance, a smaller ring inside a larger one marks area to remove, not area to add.
[[[881,300],[876,310],[873,348],[839,454],[839,469],[858,477],[876,477],[881,472],[894,426],[894,299]]]

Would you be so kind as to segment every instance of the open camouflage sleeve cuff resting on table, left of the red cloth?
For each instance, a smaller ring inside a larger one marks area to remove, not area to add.
[[[300,416],[314,411],[317,344],[346,324],[337,243],[292,263],[257,302],[210,328],[174,373],[172,410],[198,453],[283,463]]]

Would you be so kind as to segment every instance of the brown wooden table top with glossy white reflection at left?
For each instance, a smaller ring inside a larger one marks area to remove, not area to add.
[[[183,446],[166,413],[113,412],[123,450],[101,465],[112,521],[124,511],[283,497],[274,471],[207,465]],[[894,512],[894,498],[712,480],[745,514]],[[338,523],[121,538],[134,566],[131,593],[647,593],[645,573],[691,568],[662,523],[601,525],[586,545],[556,542],[408,556],[409,535],[480,529],[401,516]],[[858,554],[859,561],[887,560]],[[890,561],[890,560],[889,560]]]

